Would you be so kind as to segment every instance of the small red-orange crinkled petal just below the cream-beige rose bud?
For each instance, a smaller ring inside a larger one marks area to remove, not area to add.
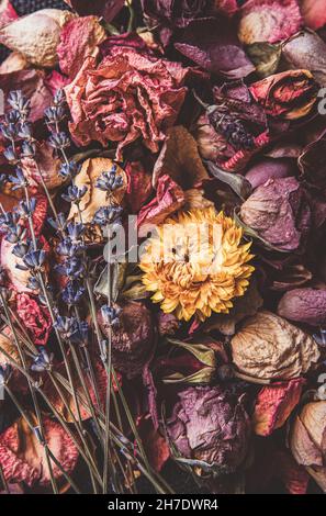
[[[304,383],[303,379],[291,380],[266,386],[259,392],[254,413],[258,436],[267,437],[284,425],[300,401]]]

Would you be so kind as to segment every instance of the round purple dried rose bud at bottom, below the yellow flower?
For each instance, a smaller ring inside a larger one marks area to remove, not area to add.
[[[188,388],[167,422],[175,458],[190,465],[229,474],[244,462],[250,420],[238,396],[220,386]]]

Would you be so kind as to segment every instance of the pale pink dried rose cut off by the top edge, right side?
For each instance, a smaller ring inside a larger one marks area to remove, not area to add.
[[[249,0],[240,10],[238,35],[246,45],[277,43],[295,34],[301,25],[296,0]]]

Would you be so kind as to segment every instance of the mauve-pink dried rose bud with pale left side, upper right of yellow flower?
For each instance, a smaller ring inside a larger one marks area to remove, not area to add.
[[[295,178],[258,187],[241,205],[240,216],[265,240],[286,251],[304,245],[311,224],[307,198]]]

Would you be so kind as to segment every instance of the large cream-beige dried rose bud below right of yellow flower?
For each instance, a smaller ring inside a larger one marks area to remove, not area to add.
[[[290,380],[319,358],[315,340],[271,312],[258,312],[231,341],[233,361],[252,380]]]

